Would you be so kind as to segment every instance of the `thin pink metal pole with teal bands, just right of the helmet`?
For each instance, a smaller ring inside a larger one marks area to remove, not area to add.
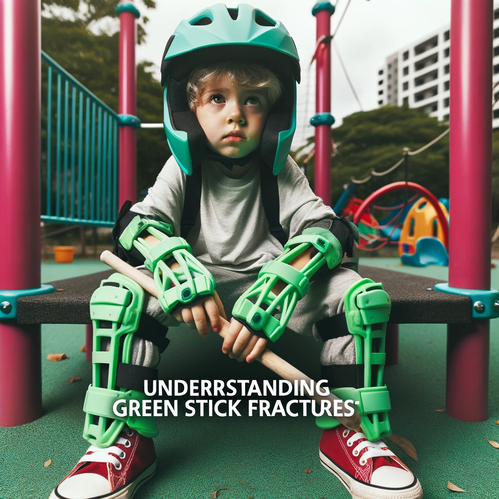
[[[317,19],[317,42],[321,46],[316,52],[315,116],[315,194],[325,205],[331,206],[331,124],[326,118],[331,112],[331,14],[334,7],[329,2],[317,3],[312,9]],[[332,119],[332,116],[330,116]],[[322,120],[322,123],[321,121]]]

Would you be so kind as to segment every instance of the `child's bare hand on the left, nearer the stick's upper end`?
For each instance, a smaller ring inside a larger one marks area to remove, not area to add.
[[[179,308],[172,314],[179,322],[185,322],[191,329],[197,329],[201,336],[208,336],[208,324],[206,315],[210,320],[210,328],[212,331],[219,332],[222,328],[220,317],[227,320],[227,315],[224,310],[224,305],[220,300],[217,291],[213,296],[206,296],[194,303],[185,307]]]

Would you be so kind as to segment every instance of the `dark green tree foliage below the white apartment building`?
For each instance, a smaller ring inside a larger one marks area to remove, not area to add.
[[[403,148],[415,151],[440,135],[448,127],[445,122],[431,118],[418,109],[408,106],[384,106],[367,112],[351,114],[341,126],[333,128],[336,155],[332,158],[332,204],[343,192],[343,184],[350,178],[366,178],[372,170],[384,172],[403,156]],[[314,138],[308,139],[312,144]],[[307,154],[301,150],[293,153],[299,165]],[[313,158],[307,163],[307,177],[313,184]],[[423,185],[437,197],[449,195],[449,137],[443,137],[426,151],[409,157],[408,180]],[[405,180],[404,165],[383,177],[372,177],[357,186],[356,196],[365,199],[380,187]],[[398,196],[400,199],[400,195]],[[383,200],[384,201],[384,200]],[[387,200],[389,201],[389,200]],[[385,204],[384,202],[381,204]]]

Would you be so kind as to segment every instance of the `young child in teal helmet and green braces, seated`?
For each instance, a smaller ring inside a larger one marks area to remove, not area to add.
[[[209,7],[168,41],[162,84],[173,156],[145,200],[123,206],[113,230],[115,253],[145,263],[159,299],[120,274],[92,296],[84,437],[94,445],[51,498],[131,498],[152,477],[154,421],[118,418],[111,403],[145,398],[144,380],[157,376],[167,345],[164,326],[185,322],[206,336],[220,329],[225,310],[233,318],[222,348],[239,361],[255,360],[286,327],[324,342],[322,378],[362,402],[364,433],[317,420],[320,461],[352,498],[422,497],[419,481],[380,440],[390,433],[382,385],[388,295],[340,266],[355,230],[288,156],[296,82],[286,29],[247,4]]]

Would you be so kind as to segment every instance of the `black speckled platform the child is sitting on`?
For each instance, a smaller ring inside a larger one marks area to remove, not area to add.
[[[102,279],[114,270],[50,282],[50,294],[22,296],[17,300],[19,324],[90,324],[89,301]],[[434,291],[438,282],[386,268],[359,266],[362,277],[382,282],[392,300],[394,324],[461,324],[471,321],[471,298]],[[431,290],[428,290],[430,288]]]

